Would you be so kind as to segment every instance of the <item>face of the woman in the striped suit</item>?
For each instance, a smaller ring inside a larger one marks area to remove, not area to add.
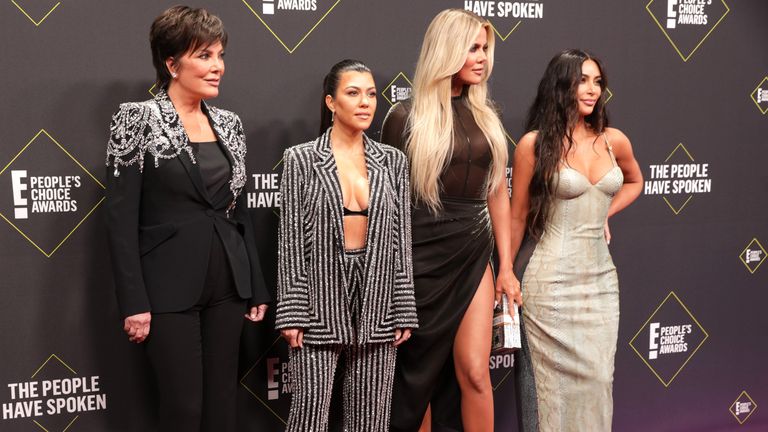
[[[351,131],[364,131],[371,126],[376,112],[376,84],[368,72],[347,71],[341,74],[336,94],[325,97],[333,112],[333,124]]]

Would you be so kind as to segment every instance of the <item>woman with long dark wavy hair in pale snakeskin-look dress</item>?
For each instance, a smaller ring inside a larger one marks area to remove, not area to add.
[[[597,58],[556,55],[515,150],[512,246],[517,264],[528,260],[523,323],[542,431],[611,430],[619,287],[608,218],[643,178],[629,139],[608,127],[606,85]],[[530,257],[517,253],[526,234]]]

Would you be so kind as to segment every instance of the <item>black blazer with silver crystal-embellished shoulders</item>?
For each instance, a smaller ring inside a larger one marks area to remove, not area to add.
[[[218,235],[240,297],[270,300],[248,216],[245,134],[240,118],[203,111],[232,168],[229,190],[208,196],[184,127],[164,91],[124,103],[107,147],[106,216],[121,314],[177,312],[200,298]]]

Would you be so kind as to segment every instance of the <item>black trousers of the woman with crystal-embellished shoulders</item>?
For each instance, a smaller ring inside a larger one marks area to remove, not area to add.
[[[184,269],[180,269],[184,271]],[[205,286],[191,309],[152,314],[146,350],[159,390],[161,431],[234,431],[246,301],[214,233]]]

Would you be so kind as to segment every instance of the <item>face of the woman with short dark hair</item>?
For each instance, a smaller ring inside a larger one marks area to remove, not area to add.
[[[219,83],[224,76],[224,47],[221,42],[188,51],[178,61],[166,61],[176,77],[170,87],[190,98],[210,99],[219,95]],[[170,88],[169,87],[169,88]]]

